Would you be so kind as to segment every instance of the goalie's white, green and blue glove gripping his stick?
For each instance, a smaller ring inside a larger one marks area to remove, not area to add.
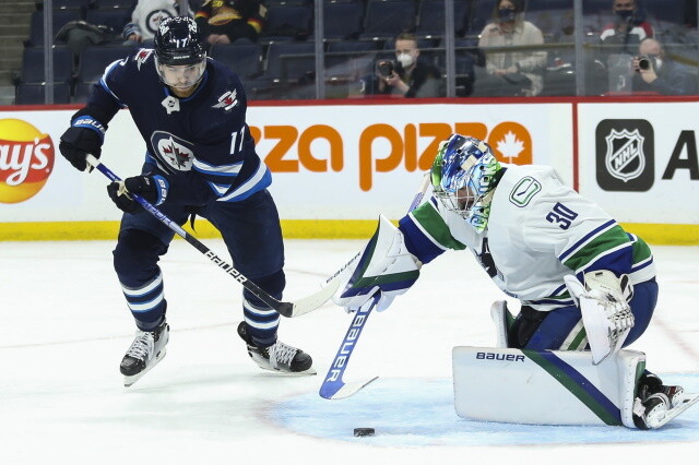
[[[405,293],[419,276],[423,265],[407,251],[401,233],[383,215],[362,255],[347,266],[340,294],[332,300],[348,312],[356,311],[379,293],[376,309],[386,310],[395,296]]]

